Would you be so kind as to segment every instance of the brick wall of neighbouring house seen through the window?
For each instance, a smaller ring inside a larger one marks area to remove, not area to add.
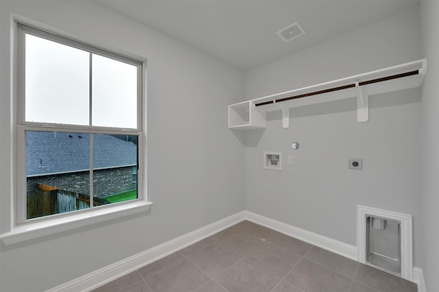
[[[90,195],[90,176],[88,172],[71,172],[68,174],[54,174],[27,178],[27,194],[36,194],[38,183],[58,187],[64,191],[71,191]],[[137,189],[137,183],[132,182],[132,167],[109,168],[93,172],[93,196],[102,198],[125,191]]]

